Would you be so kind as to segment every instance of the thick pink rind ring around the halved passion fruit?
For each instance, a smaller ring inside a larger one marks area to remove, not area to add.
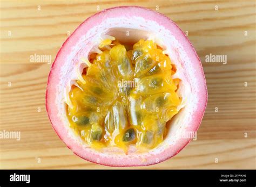
[[[62,102],[64,103],[64,97],[61,95],[60,88],[64,88],[64,85],[70,86],[68,83],[64,83],[65,80],[60,79],[60,77],[64,77],[63,74],[65,74],[66,79],[71,78],[69,71],[63,71],[62,68],[63,66],[68,66],[68,68],[76,66],[75,60],[77,59],[70,62],[68,65],[65,63],[68,61],[69,55],[74,50],[73,46],[77,44],[81,35],[87,33],[93,26],[100,24],[105,18],[120,18],[124,16],[136,16],[142,17],[147,21],[155,21],[156,24],[159,24],[166,30],[170,31],[174,38],[176,38],[179,44],[183,47],[184,50],[181,52],[186,53],[191,63],[187,63],[186,61],[183,62],[182,58],[181,61],[179,59],[181,66],[186,69],[186,72],[181,75],[181,77],[187,80],[192,80],[194,81],[193,83],[197,83],[196,85],[193,84],[195,86],[191,87],[190,90],[190,95],[192,95],[191,97],[194,99],[196,98],[197,103],[190,103],[192,105],[191,113],[189,115],[191,122],[187,125],[184,131],[196,132],[198,130],[207,104],[207,87],[200,59],[190,41],[172,20],[158,12],[138,6],[119,6],[98,12],[96,15],[87,18],[81,25],[79,25],[76,31],[70,35],[60,48],[51,67],[46,89],[46,110],[48,111],[52,127],[58,134],[59,138],[62,139],[66,146],[68,146],[75,154],[83,159],[105,166],[147,166],[163,162],[178,154],[180,150],[191,141],[191,139],[179,138],[176,139],[176,142],[167,145],[167,147],[162,146],[143,154],[132,154],[133,150],[131,150],[127,155],[108,153],[105,152],[105,150],[103,150],[103,152],[98,152],[97,150],[89,147],[84,147],[79,140],[70,135],[68,124],[65,124],[65,113],[60,110],[64,107],[64,104],[62,104]],[[141,24],[143,25],[144,23]],[[90,45],[90,43],[88,45]],[[179,49],[177,49],[177,51],[179,52]],[[192,66],[193,69],[190,66]],[[113,149],[112,151],[114,152],[118,150]]]

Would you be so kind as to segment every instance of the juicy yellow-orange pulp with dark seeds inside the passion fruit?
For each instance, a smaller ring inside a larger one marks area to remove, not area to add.
[[[82,81],[69,92],[70,126],[96,149],[158,146],[180,104],[169,56],[151,40],[126,50],[131,47],[106,39],[99,48],[103,53],[90,56]]]

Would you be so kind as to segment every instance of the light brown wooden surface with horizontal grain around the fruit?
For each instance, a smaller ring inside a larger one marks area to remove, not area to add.
[[[0,139],[1,169],[112,169],[80,159],[52,130],[45,111],[45,88],[51,65],[30,62],[30,55],[51,55],[53,61],[68,33],[96,13],[97,6],[102,10],[119,5],[140,5],[154,10],[159,6],[159,12],[188,31],[207,79],[208,105],[197,141],[170,160],[141,168],[255,169],[254,1],[1,1],[0,4],[0,131],[21,131],[20,141]],[[206,63],[205,55],[210,53],[227,55],[227,64]]]

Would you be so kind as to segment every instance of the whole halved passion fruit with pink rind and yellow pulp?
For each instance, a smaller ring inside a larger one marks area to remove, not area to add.
[[[124,6],[88,18],[52,65],[46,109],[78,156],[145,166],[193,138],[207,103],[201,62],[183,32],[149,9]]]

